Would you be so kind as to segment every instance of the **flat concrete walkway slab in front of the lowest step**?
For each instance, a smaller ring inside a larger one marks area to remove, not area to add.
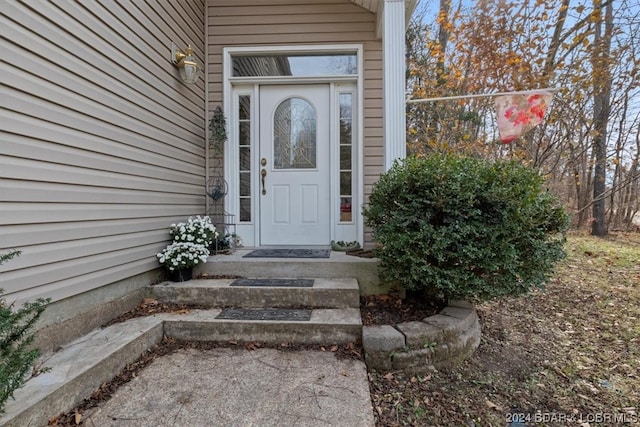
[[[331,352],[184,349],[100,408],[96,426],[373,426],[364,363]]]

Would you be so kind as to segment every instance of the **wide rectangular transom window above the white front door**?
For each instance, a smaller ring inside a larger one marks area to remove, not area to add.
[[[233,77],[318,77],[357,74],[358,57],[355,53],[233,57]]]

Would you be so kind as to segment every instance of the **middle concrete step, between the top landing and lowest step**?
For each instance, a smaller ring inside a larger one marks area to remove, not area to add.
[[[317,307],[358,308],[356,279],[313,279],[313,287],[231,286],[234,279],[164,282],[149,287],[162,302],[208,307]]]

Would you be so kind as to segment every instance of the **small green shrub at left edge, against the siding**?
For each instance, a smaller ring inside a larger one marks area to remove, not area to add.
[[[19,254],[18,251],[0,254],[0,264]],[[0,299],[0,414],[40,355],[38,349],[31,348],[35,338],[33,328],[48,302],[41,298],[13,311]]]

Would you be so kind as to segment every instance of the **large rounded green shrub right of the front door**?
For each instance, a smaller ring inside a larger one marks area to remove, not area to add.
[[[569,224],[542,184],[517,162],[442,154],[396,162],[364,210],[382,279],[446,299],[541,287],[565,255]]]

